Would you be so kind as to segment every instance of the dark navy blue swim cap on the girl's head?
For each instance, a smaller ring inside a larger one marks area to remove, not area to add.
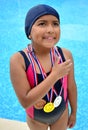
[[[34,22],[43,15],[54,15],[60,21],[59,14],[54,8],[44,4],[32,7],[25,18],[25,33],[28,39]]]

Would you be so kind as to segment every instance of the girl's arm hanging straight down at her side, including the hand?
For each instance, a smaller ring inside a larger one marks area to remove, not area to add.
[[[68,100],[71,107],[71,114],[69,116],[68,126],[69,128],[72,128],[76,122],[76,112],[77,112],[77,87],[74,77],[74,61],[72,54],[69,51],[63,49],[63,52],[66,59],[71,59],[72,62],[72,67],[68,74]]]

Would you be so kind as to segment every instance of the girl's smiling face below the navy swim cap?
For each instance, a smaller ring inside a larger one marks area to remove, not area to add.
[[[58,19],[53,15],[44,15],[33,24],[29,36],[34,46],[53,47],[60,38]]]

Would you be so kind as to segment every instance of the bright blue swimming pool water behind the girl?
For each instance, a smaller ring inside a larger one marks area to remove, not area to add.
[[[44,3],[55,7],[61,18],[58,45],[74,58],[78,89],[77,123],[72,130],[88,130],[88,1],[87,0],[0,0],[0,118],[26,121],[10,81],[10,56],[29,43],[24,33],[28,9]]]

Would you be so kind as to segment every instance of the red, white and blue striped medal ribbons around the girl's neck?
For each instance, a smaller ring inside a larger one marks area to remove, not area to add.
[[[35,86],[36,86],[38,84],[38,80],[37,80],[36,67],[35,67],[35,64],[34,64],[34,60],[36,61],[37,65],[39,67],[39,70],[40,70],[40,73],[42,74],[43,79],[45,79],[47,77],[47,74],[46,74],[45,70],[43,69],[43,67],[42,67],[40,61],[38,60],[38,58],[35,56],[34,50],[33,50],[31,45],[28,46],[28,51],[29,51],[28,56],[29,56],[30,62],[32,64],[33,73],[34,73],[34,81],[35,81]],[[61,58],[59,52],[56,49],[52,48],[51,51],[50,51],[50,58],[51,58],[52,66],[55,63],[55,54],[57,54],[57,56],[60,57],[60,63],[62,62],[62,58]],[[61,79],[61,81],[63,81],[63,79]],[[59,95],[61,95],[61,92],[62,92],[62,87],[61,87]],[[53,93],[55,93],[55,95],[58,96],[54,87],[52,87],[52,89],[50,89],[50,95],[49,95],[49,93],[47,94],[47,99],[50,102],[52,102]]]

